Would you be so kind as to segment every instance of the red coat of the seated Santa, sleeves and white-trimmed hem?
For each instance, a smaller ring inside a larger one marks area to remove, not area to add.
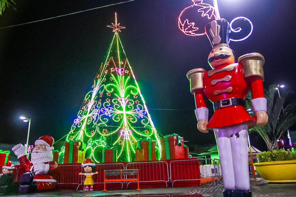
[[[27,158],[26,155],[19,158],[20,165],[25,171],[33,171],[31,169],[33,167],[33,163]],[[34,175],[34,181],[41,181],[41,182],[56,182],[54,180],[52,174],[54,173],[55,169],[57,169],[57,162],[44,162],[44,164],[49,164],[49,170],[46,174],[41,175]]]

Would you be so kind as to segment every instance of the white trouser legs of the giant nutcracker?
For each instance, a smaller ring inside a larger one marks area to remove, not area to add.
[[[214,128],[225,189],[250,190],[248,127]]]

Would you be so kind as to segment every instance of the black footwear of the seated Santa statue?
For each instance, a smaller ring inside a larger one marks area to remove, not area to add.
[[[33,182],[34,174],[26,172],[20,176],[20,193],[32,193],[37,191],[37,183]]]

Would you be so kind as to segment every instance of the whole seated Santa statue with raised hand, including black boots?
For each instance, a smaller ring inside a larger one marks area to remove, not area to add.
[[[36,190],[51,190],[56,186],[52,174],[57,168],[57,163],[52,161],[52,146],[54,139],[49,135],[44,135],[35,141],[35,147],[31,153],[31,160],[27,158],[26,147],[17,144],[12,151],[20,161],[20,165],[26,173],[20,177],[20,193],[29,193]]]

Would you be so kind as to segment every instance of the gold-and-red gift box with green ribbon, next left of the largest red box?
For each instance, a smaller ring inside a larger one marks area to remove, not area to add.
[[[155,161],[155,141],[140,138],[137,141],[135,161]]]

